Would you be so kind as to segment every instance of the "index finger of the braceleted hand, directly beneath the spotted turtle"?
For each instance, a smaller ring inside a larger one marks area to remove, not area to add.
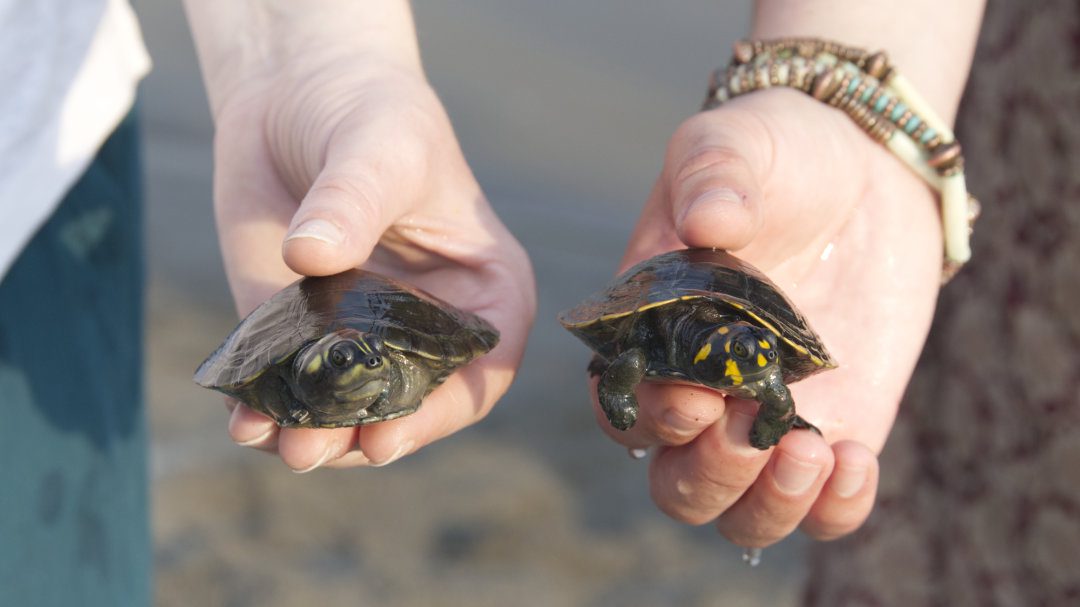
[[[627,448],[685,445],[724,415],[724,396],[701,386],[642,383],[637,387],[637,422],[618,430],[604,415],[592,378],[596,422],[615,442]]]

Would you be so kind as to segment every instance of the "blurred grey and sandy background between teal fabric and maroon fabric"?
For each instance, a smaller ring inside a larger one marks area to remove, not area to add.
[[[213,131],[179,3],[134,4],[154,60],[141,119],[159,605],[796,603],[807,541],[751,569],[711,526],[661,514],[646,463],[595,428],[585,349],[554,320],[616,269],[748,3],[414,0],[429,78],[532,257],[537,323],[482,423],[387,469],[302,476],[234,446],[220,399],[191,382],[237,322]]]

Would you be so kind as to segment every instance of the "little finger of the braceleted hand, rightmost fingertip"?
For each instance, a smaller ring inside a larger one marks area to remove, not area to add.
[[[801,529],[819,540],[832,540],[858,529],[869,516],[877,494],[878,460],[853,441],[833,445],[836,466]]]

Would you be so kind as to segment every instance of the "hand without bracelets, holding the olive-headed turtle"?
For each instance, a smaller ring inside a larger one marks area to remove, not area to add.
[[[384,464],[484,417],[535,314],[528,258],[496,217],[418,63],[300,56],[215,99],[215,214],[241,315],[301,274],[353,267],[404,280],[501,333],[414,415],[279,429],[230,402],[232,439],[296,471]]]

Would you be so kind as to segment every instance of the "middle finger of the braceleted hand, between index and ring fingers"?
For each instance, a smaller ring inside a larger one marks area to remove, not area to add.
[[[649,464],[652,500],[665,514],[691,525],[715,520],[734,503],[769,461],[750,446],[756,404],[730,399],[715,424],[692,443],[661,447]]]

